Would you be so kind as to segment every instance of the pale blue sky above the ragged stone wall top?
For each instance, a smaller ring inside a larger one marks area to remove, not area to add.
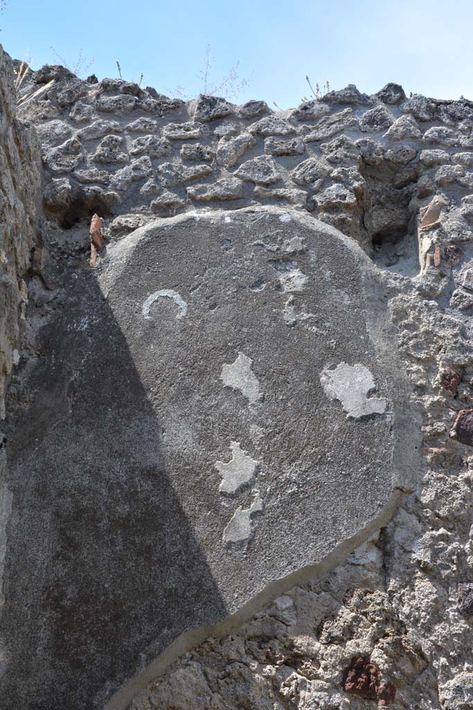
[[[0,42],[13,58],[29,48],[33,67],[73,66],[79,50],[99,79],[123,78],[189,97],[202,90],[206,45],[219,84],[238,65],[238,102],[299,104],[312,84],[389,81],[443,99],[473,99],[472,0],[8,0]],[[231,97],[230,97],[231,98]]]

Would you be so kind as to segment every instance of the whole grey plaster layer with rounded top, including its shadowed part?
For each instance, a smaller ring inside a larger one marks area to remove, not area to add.
[[[68,279],[9,442],[5,708],[103,706],[365,528],[417,461],[384,285],[335,229],[187,214]],[[385,406],[347,416],[342,371]]]

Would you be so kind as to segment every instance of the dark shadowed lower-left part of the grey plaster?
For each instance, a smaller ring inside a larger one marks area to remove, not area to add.
[[[5,710],[99,707],[177,628],[226,613],[94,273],[67,288],[9,444]]]

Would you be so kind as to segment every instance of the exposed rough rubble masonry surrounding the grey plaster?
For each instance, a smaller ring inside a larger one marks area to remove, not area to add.
[[[136,84],[83,82],[63,67],[43,67],[23,86],[21,112],[41,136],[48,218],[30,284],[33,322],[45,308],[45,285],[60,294],[65,273],[72,283],[78,269],[89,268],[94,212],[106,219],[108,251],[96,272],[108,283],[130,249],[148,244],[147,234],[164,239],[174,229],[174,214],[191,212],[198,221],[202,210],[213,219],[223,209],[231,221],[241,208],[282,205],[289,220],[300,212],[334,226],[374,260],[411,381],[402,395],[423,437],[418,478],[399,486],[394,517],[345,561],[307,574],[231,632],[215,628],[194,650],[186,653],[183,643],[174,656],[164,654],[108,707],[470,709],[473,104],[407,99],[388,84],[371,97],[350,86],[274,113],[264,102],[235,107],[201,97],[184,104]],[[440,199],[423,214],[437,192]],[[279,256],[283,241],[264,247]],[[136,261],[130,301],[140,264],[146,271],[150,261]],[[101,295],[92,289],[87,297]],[[311,327],[300,295],[284,297],[286,327]],[[126,293],[121,298],[128,302]],[[72,312],[67,297],[57,302],[66,316]],[[79,381],[76,368],[65,407],[77,400]],[[20,406],[33,399],[28,372],[16,393]],[[146,395],[155,398],[154,388]],[[369,488],[365,496],[370,500]],[[67,601],[52,598],[68,618]],[[142,665],[153,648],[143,648]],[[88,667],[93,653],[79,650]],[[21,697],[27,695],[28,688]],[[39,703],[30,692],[30,706],[46,707]]]

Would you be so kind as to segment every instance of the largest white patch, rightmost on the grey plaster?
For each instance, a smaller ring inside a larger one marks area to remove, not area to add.
[[[360,419],[386,411],[388,400],[367,396],[376,385],[372,373],[364,365],[342,362],[334,370],[323,370],[321,385],[328,398],[341,403],[347,417]]]

